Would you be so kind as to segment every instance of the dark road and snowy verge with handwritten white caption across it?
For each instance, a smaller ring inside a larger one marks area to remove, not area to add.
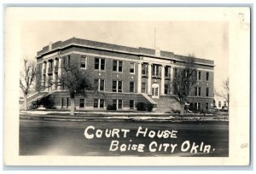
[[[102,137],[86,138],[84,130],[90,125],[95,130],[90,129],[88,133],[91,135],[102,130]],[[137,136],[140,126],[142,131],[148,128],[146,136],[143,133]],[[119,137],[106,137],[106,129],[129,132],[126,137],[121,132]],[[149,131],[157,134],[166,130],[176,133],[168,138],[148,136]],[[113,151],[110,151],[112,141],[118,141],[119,145],[112,146]],[[122,145],[123,149],[126,147],[125,151],[120,150],[121,144],[125,144]],[[134,144],[143,144],[143,152],[138,152],[137,148],[134,150]],[[170,147],[165,150],[166,144]],[[176,145],[173,151],[171,144],[172,147]],[[203,152],[206,145],[210,145],[207,146],[209,153]],[[170,114],[80,113],[71,117],[66,113],[21,113],[20,155],[223,157],[229,155],[229,121],[225,115],[187,115],[180,118]]]

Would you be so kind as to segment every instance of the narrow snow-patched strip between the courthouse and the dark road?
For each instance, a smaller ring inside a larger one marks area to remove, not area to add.
[[[128,121],[229,121],[228,115],[189,113],[180,117],[177,113],[116,113],[116,112],[75,112],[69,111],[20,111],[20,119],[86,121],[86,120],[128,120]]]

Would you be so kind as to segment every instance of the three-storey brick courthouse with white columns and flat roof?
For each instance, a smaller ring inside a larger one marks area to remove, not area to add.
[[[75,64],[85,71],[92,84],[97,84],[100,95],[88,92],[76,96],[76,110],[137,109],[138,102],[154,104],[155,111],[169,112],[179,108],[177,96],[171,88],[175,69],[184,67],[188,57],[160,49],[133,48],[106,44],[81,38],[70,38],[45,46],[38,51],[38,93],[34,100],[50,96],[59,109],[70,107],[70,96],[65,86],[53,85],[39,91],[46,79],[61,76],[61,65]],[[197,83],[190,91],[190,107],[213,107],[214,62],[195,58]],[[101,95],[102,94],[102,95]]]

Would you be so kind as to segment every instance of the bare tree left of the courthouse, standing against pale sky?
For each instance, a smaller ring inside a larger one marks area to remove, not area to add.
[[[23,60],[23,67],[20,70],[20,89],[24,96],[24,109],[27,110],[27,95],[31,90],[34,80],[36,78],[36,62],[28,61],[26,58]]]

